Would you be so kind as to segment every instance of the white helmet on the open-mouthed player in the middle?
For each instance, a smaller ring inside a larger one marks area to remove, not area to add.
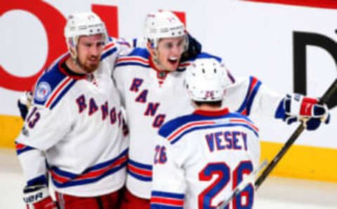
[[[159,40],[165,38],[185,37],[185,49],[188,47],[188,38],[185,25],[170,11],[149,13],[145,18],[146,41],[150,41],[152,48],[157,48]]]

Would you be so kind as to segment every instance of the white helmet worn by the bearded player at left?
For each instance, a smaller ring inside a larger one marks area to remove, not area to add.
[[[67,24],[65,25],[65,39],[68,50],[70,50],[70,47],[76,48],[80,36],[95,34],[103,34],[105,41],[108,38],[104,22],[95,13],[73,13],[68,17]]]

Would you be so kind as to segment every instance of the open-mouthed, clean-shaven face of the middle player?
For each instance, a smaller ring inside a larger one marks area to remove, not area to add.
[[[150,46],[150,43],[148,43]],[[175,71],[185,48],[185,36],[160,39],[157,48],[148,47],[157,69]]]

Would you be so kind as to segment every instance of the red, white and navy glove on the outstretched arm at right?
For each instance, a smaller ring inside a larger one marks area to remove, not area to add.
[[[315,98],[304,97],[300,94],[286,95],[284,98],[284,118],[287,124],[303,121],[307,130],[315,130],[319,125],[329,123],[330,114],[326,104],[317,104]]]

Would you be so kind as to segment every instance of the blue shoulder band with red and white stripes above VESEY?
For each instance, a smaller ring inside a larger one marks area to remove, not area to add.
[[[194,130],[232,126],[247,128],[258,136],[258,128],[254,123],[246,116],[237,113],[219,116],[204,116],[200,114],[180,116],[165,123],[164,126],[159,129],[158,134],[171,144],[175,144],[184,135]]]

